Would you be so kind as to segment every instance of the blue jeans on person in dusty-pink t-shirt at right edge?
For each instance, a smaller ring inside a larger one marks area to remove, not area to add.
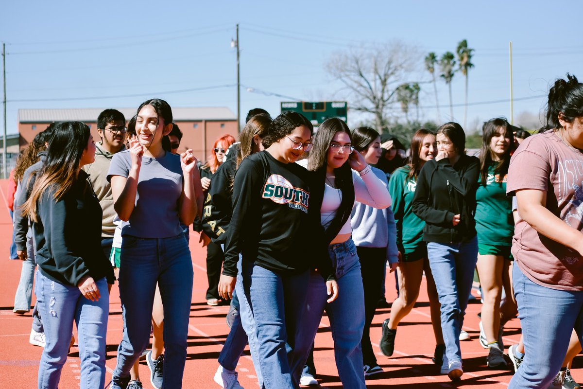
[[[508,389],[546,388],[559,372],[573,328],[583,341],[583,291],[556,290],[512,268],[514,296],[524,341],[524,361]]]

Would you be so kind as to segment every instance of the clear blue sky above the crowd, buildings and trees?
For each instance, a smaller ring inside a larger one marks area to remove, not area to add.
[[[137,107],[150,97],[171,106],[227,106],[236,113],[240,24],[241,117],[279,103],[343,100],[325,70],[335,51],[400,40],[417,47],[411,79],[430,80],[427,52],[475,49],[468,127],[510,118],[508,43],[514,59],[514,118],[539,114],[550,83],[567,72],[583,80],[580,1],[9,1],[2,5],[8,132],[19,108]],[[252,88],[253,92],[249,92]],[[422,85],[422,119],[436,120],[433,86]],[[464,80],[454,77],[454,120],[463,121]],[[438,81],[442,118],[448,92]],[[35,101],[30,101],[35,100]],[[350,101],[350,100],[349,100]],[[350,107],[350,106],[349,106]],[[398,106],[395,106],[398,108]],[[398,109],[396,109],[398,112]],[[349,124],[362,116],[349,111]]]

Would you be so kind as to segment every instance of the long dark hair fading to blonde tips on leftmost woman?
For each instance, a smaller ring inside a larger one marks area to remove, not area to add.
[[[59,201],[78,178],[79,163],[91,132],[80,121],[59,122],[47,149],[47,159],[38,173],[30,197],[22,206],[24,216],[38,221],[37,205],[45,190],[55,185],[54,201]]]

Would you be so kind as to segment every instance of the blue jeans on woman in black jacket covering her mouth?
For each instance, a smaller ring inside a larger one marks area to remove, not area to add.
[[[462,360],[459,332],[472,292],[477,261],[477,239],[464,243],[427,243],[427,257],[441,304],[441,331],[445,355],[451,363]]]

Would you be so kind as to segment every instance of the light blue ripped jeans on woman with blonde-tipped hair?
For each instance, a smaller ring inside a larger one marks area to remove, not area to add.
[[[38,389],[57,388],[67,360],[73,320],[77,324],[80,387],[103,388],[106,379],[106,333],[109,293],[105,278],[95,280],[101,298],[92,302],[76,286],[51,281],[38,272],[37,301],[46,344],[38,366]]]

